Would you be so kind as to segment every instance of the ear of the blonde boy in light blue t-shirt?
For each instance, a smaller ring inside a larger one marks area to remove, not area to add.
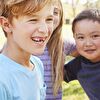
[[[7,18],[0,16],[0,24],[1,24],[2,29],[5,32],[7,33],[11,32],[11,28],[10,28],[11,24],[9,23]]]

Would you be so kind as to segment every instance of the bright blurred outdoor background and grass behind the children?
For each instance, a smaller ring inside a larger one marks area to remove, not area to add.
[[[63,24],[63,38],[73,39],[71,31],[71,23],[73,18],[82,10],[88,8],[100,9],[100,0],[61,0],[64,10],[64,24]],[[0,49],[3,47],[6,38],[0,28]],[[73,59],[73,57],[67,56],[66,62]],[[78,81],[72,81],[70,83],[62,82],[63,98],[62,100],[89,100],[84,90],[80,86]]]

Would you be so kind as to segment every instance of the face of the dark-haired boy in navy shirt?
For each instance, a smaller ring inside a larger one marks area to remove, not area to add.
[[[81,20],[75,24],[75,41],[78,52],[91,60],[100,61],[100,23]]]

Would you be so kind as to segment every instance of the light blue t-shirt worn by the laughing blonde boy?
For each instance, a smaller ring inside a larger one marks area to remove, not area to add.
[[[32,71],[0,54],[0,100],[45,100],[43,65],[32,56]]]

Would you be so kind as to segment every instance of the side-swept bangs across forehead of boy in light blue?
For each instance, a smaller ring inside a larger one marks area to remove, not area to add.
[[[41,2],[42,0],[26,0],[19,4],[16,4],[12,7],[11,13],[14,16],[22,16],[22,15],[32,15],[33,13],[41,10],[45,4],[47,3],[47,0],[44,0],[45,2]]]

